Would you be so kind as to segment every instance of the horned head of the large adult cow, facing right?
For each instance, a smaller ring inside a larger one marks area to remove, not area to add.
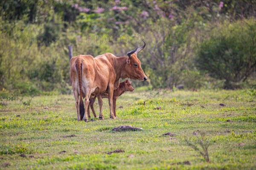
[[[142,47],[138,48],[137,45],[137,48],[127,53],[128,59],[126,60],[125,71],[130,79],[139,79],[140,81],[146,81],[148,79],[141,68],[140,60],[137,58],[137,54],[146,46],[145,41],[143,42],[144,45]]]

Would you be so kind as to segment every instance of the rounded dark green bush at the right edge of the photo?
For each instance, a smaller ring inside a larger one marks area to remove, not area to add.
[[[212,31],[221,39],[203,42],[198,50],[198,68],[209,71],[212,77],[224,79],[224,88],[239,87],[256,70],[255,19],[223,24]]]

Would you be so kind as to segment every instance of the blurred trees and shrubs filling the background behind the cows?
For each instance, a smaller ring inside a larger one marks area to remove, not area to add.
[[[3,0],[0,90],[70,93],[68,45],[74,56],[125,56],[142,40],[148,81],[134,87],[255,87],[255,17],[250,0]],[[228,80],[206,73],[217,67]]]

